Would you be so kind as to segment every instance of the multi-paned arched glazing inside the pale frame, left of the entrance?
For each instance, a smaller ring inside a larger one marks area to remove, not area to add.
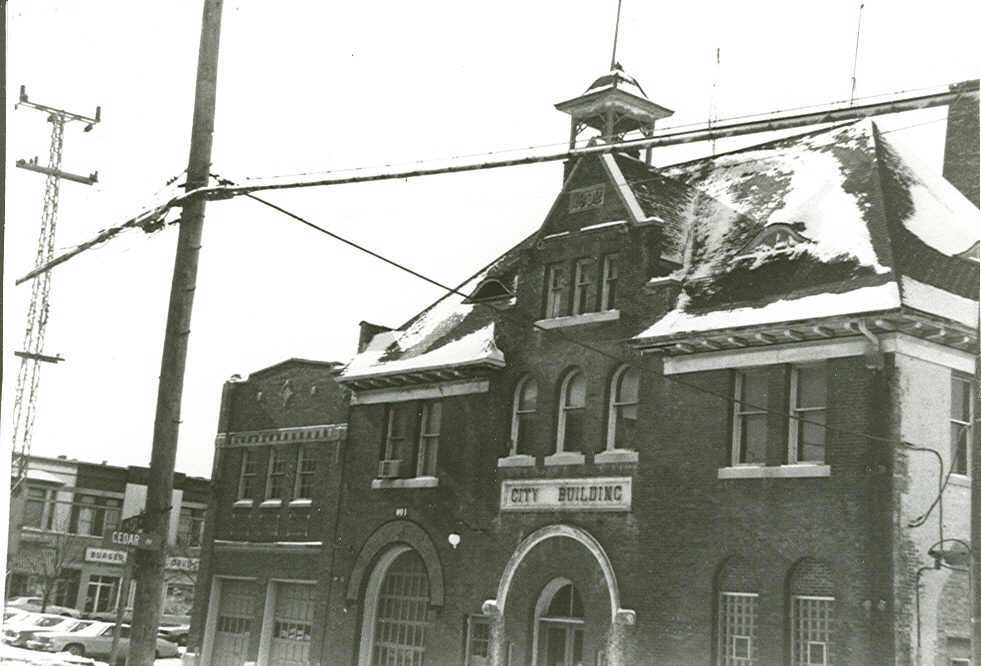
[[[407,550],[385,572],[375,610],[372,666],[422,666],[429,625],[429,577],[422,558]]]

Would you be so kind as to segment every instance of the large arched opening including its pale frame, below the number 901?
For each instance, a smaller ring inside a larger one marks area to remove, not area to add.
[[[395,546],[378,560],[365,589],[360,666],[422,666],[429,628],[429,576],[415,550]]]

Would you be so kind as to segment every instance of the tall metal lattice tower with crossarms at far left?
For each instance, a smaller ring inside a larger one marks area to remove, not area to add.
[[[38,234],[35,266],[42,266],[54,257],[55,225],[58,221],[58,189],[62,178],[76,183],[92,185],[98,181],[98,172],[79,176],[61,170],[61,154],[65,138],[65,125],[72,120],[85,123],[89,132],[99,122],[101,109],[96,107],[95,117],[82,116],[64,109],[31,102],[24,86],[20,87],[20,100],[17,107],[25,106],[48,114],[51,123],[51,145],[48,151],[48,165],[38,164],[37,157],[32,160],[17,160],[17,166],[28,171],[47,175],[44,187],[44,209],[41,213],[41,231]],[[34,429],[35,407],[37,406],[37,387],[41,377],[41,363],[58,363],[64,359],[44,353],[44,334],[48,326],[50,311],[48,295],[51,292],[50,273],[34,282],[31,302],[27,309],[27,326],[24,331],[24,347],[14,352],[20,357],[17,373],[17,389],[14,397],[13,464],[11,470],[15,480],[11,493],[16,492],[27,472],[27,460],[31,454],[31,434]]]

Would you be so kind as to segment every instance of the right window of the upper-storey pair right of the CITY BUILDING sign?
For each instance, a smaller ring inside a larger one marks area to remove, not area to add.
[[[788,463],[825,462],[827,411],[827,366],[818,363],[791,368]]]

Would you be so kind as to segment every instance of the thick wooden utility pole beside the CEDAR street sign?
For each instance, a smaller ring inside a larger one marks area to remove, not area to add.
[[[197,83],[194,93],[194,118],[191,149],[187,161],[187,191],[208,184],[211,167],[211,142],[215,126],[215,92],[218,79],[218,42],[221,32],[223,0],[205,0],[201,19],[201,42],[198,49]],[[150,666],[156,651],[163,601],[164,544],[170,523],[170,501],[174,487],[174,460],[180,426],[181,395],[184,388],[184,366],[187,341],[191,333],[191,309],[197,281],[198,254],[204,226],[205,200],[192,197],[183,206],[177,256],[170,286],[167,329],[160,361],[157,389],[157,411],[153,423],[153,451],[147,483],[146,512],[143,530],[157,539],[156,550],[133,553],[136,577],[136,599],[130,640],[129,664]],[[179,507],[176,508],[179,510]]]

